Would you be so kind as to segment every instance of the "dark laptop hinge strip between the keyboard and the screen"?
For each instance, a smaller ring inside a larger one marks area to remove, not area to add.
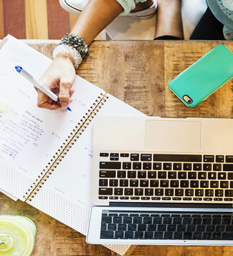
[[[198,203],[134,203],[110,202],[109,206],[118,207],[172,207],[172,208],[233,208],[232,204],[198,204]]]

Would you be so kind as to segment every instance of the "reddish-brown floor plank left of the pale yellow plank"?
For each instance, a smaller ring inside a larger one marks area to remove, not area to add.
[[[3,0],[5,35],[26,38],[24,0]]]

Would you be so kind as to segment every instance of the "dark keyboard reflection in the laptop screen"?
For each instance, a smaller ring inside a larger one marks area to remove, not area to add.
[[[233,240],[233,213],[103,211],[100,238]]]

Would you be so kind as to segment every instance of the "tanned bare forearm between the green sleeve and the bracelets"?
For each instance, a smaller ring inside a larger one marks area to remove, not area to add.
[[[122,6],[116,0],[90,0],[71,32],[90,44],[122,11]]]

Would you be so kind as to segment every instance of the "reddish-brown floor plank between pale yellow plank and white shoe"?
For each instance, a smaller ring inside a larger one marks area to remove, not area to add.
[[[59,1],[47,0],[49,39],[61,39],[70,32],[69,13],[62,9]]]

